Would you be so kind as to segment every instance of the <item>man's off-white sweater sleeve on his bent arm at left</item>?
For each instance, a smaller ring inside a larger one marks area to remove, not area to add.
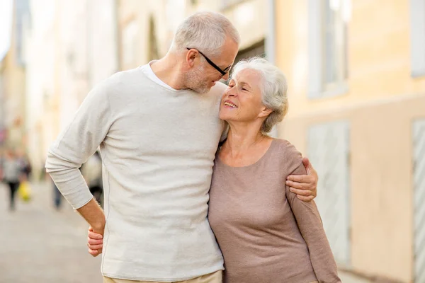
[[[47,154],[46,171],[74,209],[93,198],[79,168],[94,154],[111,127],[109,84],[108,80],[99,83],[86,96]]]

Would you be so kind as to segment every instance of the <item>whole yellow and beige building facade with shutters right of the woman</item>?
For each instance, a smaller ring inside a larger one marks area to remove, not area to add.
[[[425,282],[425,1],[276,1],[280,136],[310,157],[339,264]]]

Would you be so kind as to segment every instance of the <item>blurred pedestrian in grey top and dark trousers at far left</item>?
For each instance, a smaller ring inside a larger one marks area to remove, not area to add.
[[[21,178],[21,164],[16,158],[16,154],[11,150],[6,150],[6,156],[3,161],[3,179],[9,189],[9,209],[16,208],[16,192]]]

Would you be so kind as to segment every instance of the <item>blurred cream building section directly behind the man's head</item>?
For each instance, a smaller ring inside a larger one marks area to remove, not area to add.
[[[196,11],[217,11],[234,23],[242,39],[237,60],[263,55],[267,53],[270,5],[273,1],[118,0],[120,69],[134,68],[164,56],[177,25]]]

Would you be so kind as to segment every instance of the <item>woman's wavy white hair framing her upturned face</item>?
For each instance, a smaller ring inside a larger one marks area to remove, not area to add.
[[[261,132],[267,134],[274,125],[283,120],[288,112],[288,83],[285,75],[275,65],[261,57],[251,57],[239,61],[232,71],[232,79],[235,79],[239,71],[252,69],[261,75],[261,96],[263,105],[272,110],[270,115],[261,125]]]

